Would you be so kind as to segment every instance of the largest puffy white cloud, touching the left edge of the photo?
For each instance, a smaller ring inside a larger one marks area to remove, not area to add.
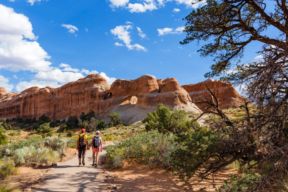
[[[0,18],[0,69],[50,70],[51,63],[47,61],[50,56],[36,41],[28,17],[0,4]]]

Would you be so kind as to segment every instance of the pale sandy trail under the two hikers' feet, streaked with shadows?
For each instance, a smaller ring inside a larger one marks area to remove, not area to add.
[[[81,167],[78,166],[77,155],[68,161],[60,162],[43,178],[43,183],[31,187],[32,191],[111,192],[110,184],[106,182],[107,175],[104,175],[103,164],[101,163],[104,160],[107,145],[109,144],[103,145],[103,151],[99,154],[97,168],[92,167],[91,147],[90,150],[86,151],[85,166],[82,164]],[[76,149],[75,152],[77,152]]]

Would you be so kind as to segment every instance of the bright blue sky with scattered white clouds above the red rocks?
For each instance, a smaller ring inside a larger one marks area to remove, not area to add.
[[[0,0],[0,87],[59,87],[91,73],[204,81],[213,58],[180,45],[189,0]],[[254,43],[243,62],[257,56]],[[201,44],[200,44],[201,46]],[[215,78],[216,79],[216,78]]]

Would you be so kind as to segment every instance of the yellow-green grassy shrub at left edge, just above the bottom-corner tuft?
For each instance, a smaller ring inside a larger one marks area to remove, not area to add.
[[[9,159],[0,159],[0,179],[6,179],[11,175],[17,175],[20,172],[18,168],[15,168],[13,161]]]

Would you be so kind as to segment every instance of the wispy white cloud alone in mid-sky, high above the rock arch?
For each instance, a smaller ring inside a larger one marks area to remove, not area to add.
[[[134,44],[131,45],[131,37],[130,37],[130,32],[128,31],[129,29],[132,29],[132,25],[120,25],[116,26],[116,28],[111,29],[110,32],[115,35],[118,39],[124,42],[125,46],[129,50],[143,50],[147,51],[145,47],[139,45],[139,44]],[[120,43],[115,44],[116,46],[121,46]]]

